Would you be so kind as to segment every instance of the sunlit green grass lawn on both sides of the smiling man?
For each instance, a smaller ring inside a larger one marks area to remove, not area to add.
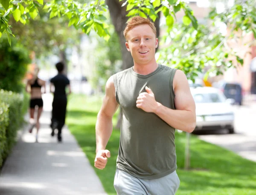
[[[94,168],[95,123],[102,98],[72,95],[68,103],[67,125],[76,137]],[[113,124],[116,123],[116,116]],[[186,134],[177,133],[177,174],[180,188],[177,195],[256,195],[256,163],[245,160],[219,146],[191,136],[191,170],[184,170]],[[105,191],[116,194],[113,179],[119,147],[119,131],[113,129],[107,149],[111,158],[104,170],[94,168]]]

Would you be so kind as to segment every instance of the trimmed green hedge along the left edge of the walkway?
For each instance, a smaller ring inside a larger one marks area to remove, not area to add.
[[[0,139],[1,162],[11,152],[12,147],[15,144],[17,131],[20,126],[23,125],[24,115],[27,112],[29,97],[26,93],[18,94],[15,92],[6,92],[3,89],[0,89],[0,102],[0,112],[2,110],[4,113],[3,119],[0,119],[0,136],[3,137],[3,140]],[[7,119],[6,116],[8,116]],[[2,136],[2,132],[4,132],[5,135]]]

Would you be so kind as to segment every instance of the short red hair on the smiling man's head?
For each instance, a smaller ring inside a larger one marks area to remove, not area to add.
[[[157,29],[154,26],[154,23],[151,22],[151,20],[149,20],[148,18],[144,18],[141,16],[135,16],[132,17],[131,20],[128,21],[125,30],[124,30],[124,36],[125,39],[127,40],[127,34],[128,32],[133,29],[135,26],[139,26],[139,25],[143,25],[143,24],[147,24],[151,27],[151,29],[153,30],[155,36],[157,37]]]

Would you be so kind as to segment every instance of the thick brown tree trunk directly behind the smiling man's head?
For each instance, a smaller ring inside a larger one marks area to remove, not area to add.
[[[119,0],[106,0],[106,4],[108,5],[108,9],[110,12],[110,17],[112,20],[113,25],[115,26],[115,30],[119,36],[120,46],[121,46],[121,52],[122,52],[122,69],[128,69],[131,68],[134,65],[133,58],[131,57],[131,53],[127,51],[125,46],[125,37],[123,35],[123,32],[126,27],[126,22],[128,20],[128,17],[126,16],[128,13],[126,11],[126,6],[122,7],[122,4],[125,1],[119,1]],[[159,20],[160,20],[160,13],[158,14],[159,18],[155,21],[155,26],[157,28],[157,37],[159,36]],[[116,124],[116,129],[120,129],[120,120],[122,115],[122,109],[120,110],[118,121]]]

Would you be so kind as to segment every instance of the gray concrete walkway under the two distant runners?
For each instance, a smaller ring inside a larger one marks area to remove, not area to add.
[[[99,178],[65,127],[63,143],[51,137],[51,96],[44,95],[39,143],[28,126],[0,174],[0,195],[106,195]]]

